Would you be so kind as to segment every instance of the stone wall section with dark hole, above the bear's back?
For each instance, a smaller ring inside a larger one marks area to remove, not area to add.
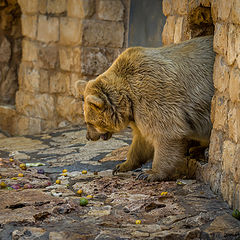
[[[209,0],[163,0],[163,13],[167,16],[164,45],[213,34]]]

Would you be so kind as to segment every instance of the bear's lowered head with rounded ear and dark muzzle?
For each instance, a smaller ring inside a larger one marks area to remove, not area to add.
[[[110,139],[113,133],[128,126],[132,115],[130,98],[124,88],[118,88],[109,76],[100,75],[86,84],[84,119],[88,140]]]

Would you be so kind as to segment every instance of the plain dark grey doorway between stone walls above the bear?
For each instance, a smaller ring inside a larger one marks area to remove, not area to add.
[[[161,46],[165,21],[162,0],[131,0],[128,46]]]

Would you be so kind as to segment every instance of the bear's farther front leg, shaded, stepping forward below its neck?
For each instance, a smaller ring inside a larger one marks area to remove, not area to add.
[[[154,148],[140,134],[139,130],[133,131],[133,140],[127,154],[127,160],[118,164],[113,170],[113,174],[117,172],[127,172],[137,169],[153,158]]]

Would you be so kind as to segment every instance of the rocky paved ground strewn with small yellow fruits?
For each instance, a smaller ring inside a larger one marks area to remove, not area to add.
[[[0,139],[0,239],[240,239],[240,221],[199,181],[113,176],[129,132],[98,142],[85,134],[71,128]]]

